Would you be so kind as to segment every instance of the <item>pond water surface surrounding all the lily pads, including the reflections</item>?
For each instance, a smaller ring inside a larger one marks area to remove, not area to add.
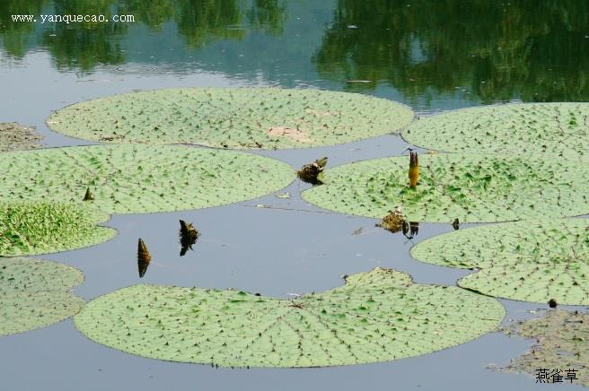
[[[132,14],[129,23],[12,22],[12,14]],[[589,98],[585,1],[3,0],[0,122],[36,126],[47,146],[88,144],[48,130],[52,110],[119,92],[180,86],[282,86],[355,91],[398,100],[419,116],[505,101]],[[399,155],[399,136],[297,151],[258,152],[294,167]],[[138,282],[288,298],[341,285],[343,274],[384,266],[416,282],[453,285],[468,271],[409,256],[418,241],[452,230],[421,224],[418,236],[374,219],[327,213],[277,194],[179,213],[116,215],[119,235],[99,246],[42,256],[80,268],[75,293],[90,300]],[[263,205],[264,207],[260,207]],[[180,258],[179,219],[201,238]],[[466,226],[466,225],[465,225]],[[136,270],[136,239],[153,255]],[[507,319],[545,305],[501,300]],[[586,310],[587,308],[577,307]],[[103,389],[536,389],[534,378],[487,369],[530,341],[492,333],[426,356],[326,369],[212,369],[155,361],[92,343],[71,320],[0,338],[6,390]],[[444,385],[444,386],[442,386]],[[560,387],[576,388],[578,386]]]

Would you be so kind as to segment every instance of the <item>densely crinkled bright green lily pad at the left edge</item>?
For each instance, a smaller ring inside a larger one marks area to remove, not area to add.
[[[79,204],[0,203],[0,256],[31,256],[84,248],[114,238],[97,227],[109,215]]]

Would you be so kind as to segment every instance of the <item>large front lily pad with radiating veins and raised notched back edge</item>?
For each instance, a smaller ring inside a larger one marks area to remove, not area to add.
[[[374,269],[295,300],[135,285],[92,300],[75,326],[133,354],[224,367],[322,367],[434,352],[493,330],[497,300]]]

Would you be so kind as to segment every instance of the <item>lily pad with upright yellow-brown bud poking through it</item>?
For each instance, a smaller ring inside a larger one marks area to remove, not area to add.
[[[589,165],[557,157],[435,154],[419,156],[409,187],[409,157],[328,169],[323,186],[303,192],[312,204],[382,218],[400,206],[410,222],[506,222],[589,213]]]

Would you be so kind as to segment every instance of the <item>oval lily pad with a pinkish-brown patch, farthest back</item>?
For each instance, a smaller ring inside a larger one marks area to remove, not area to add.
[[[131,92],[57,111],[48,126],[108,143],[198,143],[233,149],[301,148],[397,132],[413,112],[360,94],[277,88]]]

